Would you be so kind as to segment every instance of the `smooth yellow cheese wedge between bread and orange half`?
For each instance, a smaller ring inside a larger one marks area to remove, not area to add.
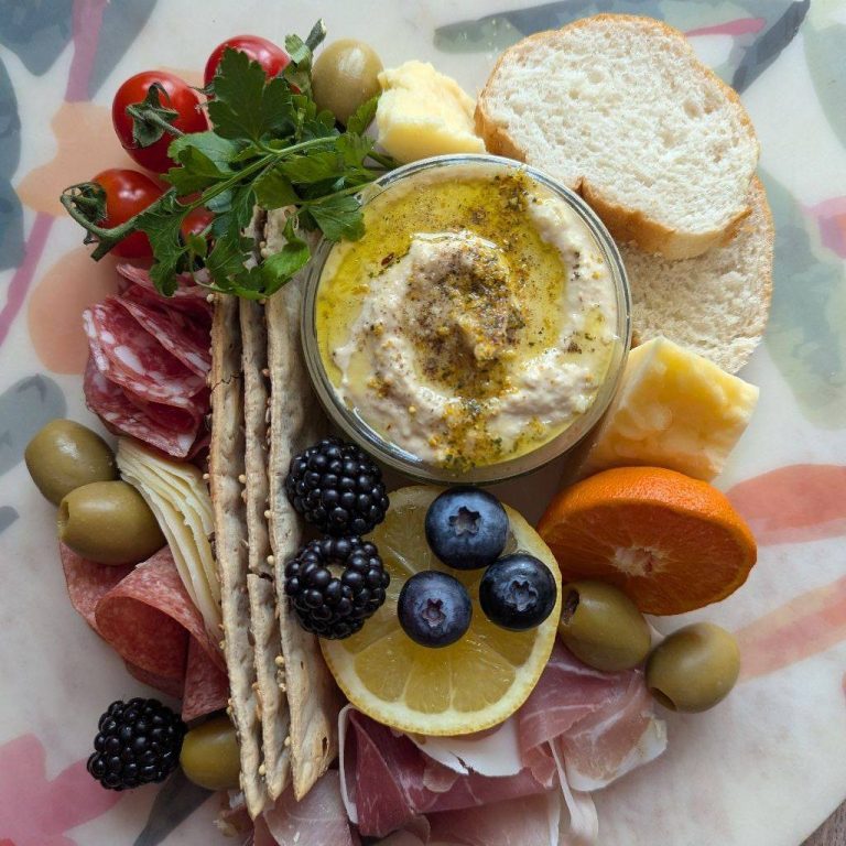
[[[617,400],[581,475],[666,467],[711,481],[758,402],[758,388],[663,337],[629,354]]]

